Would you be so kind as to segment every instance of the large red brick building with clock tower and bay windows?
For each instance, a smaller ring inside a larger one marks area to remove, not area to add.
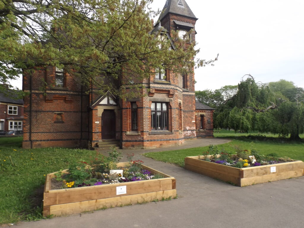
[[[181,39],[193,29],[190,44],[195,42],[196,20],[185,0],[169,0],[154,29],[164,27],[168,38],[177,31]],[[41,92],[43,81],[54,86]],[[23,88],[30,96],[24,99],[23,147],[79,147],[88,142],[96,147],[116,140],[123,149],[142,149],[196,139],[194,74],[159,72],[141,83],[147,96],[123,101],[110,92],[87,95],[70,75],[52,66],[25,74]]]

